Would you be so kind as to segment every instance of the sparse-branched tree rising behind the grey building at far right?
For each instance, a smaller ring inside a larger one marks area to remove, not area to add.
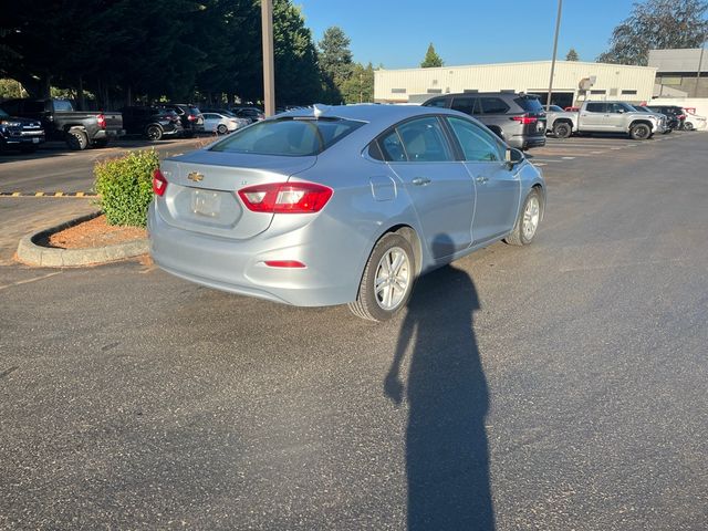
[[[645,0],[635,3],[610,39],[601,63],[646,65],[649,50],[699,48],[708,37],[704,0]]]

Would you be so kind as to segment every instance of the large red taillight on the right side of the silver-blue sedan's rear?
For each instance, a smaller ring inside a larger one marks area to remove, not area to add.
[[[271,214],[312,214],[324,208],[332,188],[314,183],[271,183],[239,190],[249,210]]]

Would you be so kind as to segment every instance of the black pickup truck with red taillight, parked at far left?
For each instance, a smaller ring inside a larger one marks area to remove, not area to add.
[[[105,147],[125,134],[117,112],[74,111],[67,100],[18,98],[0,103],[11,116],[39,121],[48,140],[63,140],[71,149]]]

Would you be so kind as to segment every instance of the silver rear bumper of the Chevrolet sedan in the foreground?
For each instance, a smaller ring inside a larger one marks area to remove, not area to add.
[[[356,298],[360,257],[323,252],[311,223],[269,238],[230,240],[175,228],[153,202],[147,217],[150,254],[176,277],[221,291],[296,306],[343,304]],[[306,268],[270,268],[266,260],[299,260]],[[347,266],[348,264],[348,266]]]

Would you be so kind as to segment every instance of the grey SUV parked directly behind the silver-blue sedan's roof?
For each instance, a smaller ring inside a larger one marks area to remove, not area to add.
[[[469,114],[511,147],[529,149],[545,145],[545,112],[538,96],[513,92],[466,92],[436,96],[423,105]]]

